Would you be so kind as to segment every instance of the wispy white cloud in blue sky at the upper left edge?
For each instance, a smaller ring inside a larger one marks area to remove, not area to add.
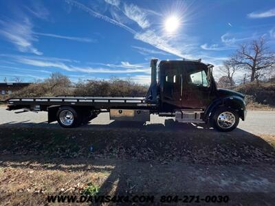
[[[33,25],[28,18],[25,18],[22,22],[0,20],[0,25],[2,25],[0,35],[14,44],[20,52],[43,54],[32,44],[34,41],[38,41],[38,38],[34,36],[32,32]]]

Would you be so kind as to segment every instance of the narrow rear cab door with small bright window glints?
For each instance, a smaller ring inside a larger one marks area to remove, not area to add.
[[[166,64],[164,69],[164,102],[181,108],[181,68],[178,64]]]

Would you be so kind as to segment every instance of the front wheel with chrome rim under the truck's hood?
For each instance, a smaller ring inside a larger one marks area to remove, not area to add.
[[[232,108],[219,107],[210,119],[211,125],[221,131],[230,132],[239,124],[239,114]]]

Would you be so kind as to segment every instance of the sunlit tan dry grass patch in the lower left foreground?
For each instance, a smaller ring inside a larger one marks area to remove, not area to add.
[[[22,160],[17,158],[1,163],[0,184],[2,191],[42,194],[81,192],[88,183],[102,185],[111,171],[105,171],[104,168],[112,168],[111,166],[103,168],[91,165],[88,170],[83,170],[85,165],[77,163],[77,159],[71,162],[67,161],[72,165],[64,165],[60,159],[59,163],[54,161],[51,166],[48,165],[49,163],[24,161],[24,157]]]

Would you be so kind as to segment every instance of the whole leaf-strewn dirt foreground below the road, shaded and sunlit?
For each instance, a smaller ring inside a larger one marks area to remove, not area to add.
[[[230,205],[272,205],[274,142],[244,131],[1,128],[0,202],[45,205],[38,195],[93,184],[100,194],[226,194]]]

